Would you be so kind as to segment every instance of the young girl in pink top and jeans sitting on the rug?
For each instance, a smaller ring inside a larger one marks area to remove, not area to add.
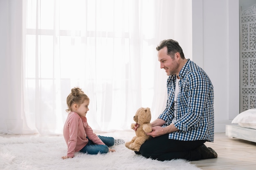
[[[115,152],[110,146],[124,144],[122,139],[97,136],[88,125],[86,113],[89,110],[90,99],[84,92],[75,87],[67,96],[66,110],[69,112],[63,128],[63,136],[67,143],[67,155],[62,159],[74,157],[75,152],[88,154]]]

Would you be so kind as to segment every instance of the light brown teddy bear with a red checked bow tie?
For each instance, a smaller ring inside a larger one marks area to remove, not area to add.
[[[131,124],[131,129],[135,131],[136,136],[132,138],[130,142],[126,142],[126,148],[130,150],[139,151],[140,146],[150,138],[149,133],[152,131],[152,127],[150,124],[151,120],[151,112],[150,109],[141,107],[135,113],[133,120],[136,123]]]

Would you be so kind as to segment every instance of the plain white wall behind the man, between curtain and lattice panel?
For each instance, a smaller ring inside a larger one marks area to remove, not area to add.
[[[192,1],[193,61],[214,86],[215,132],[239,114],[239,0]]]

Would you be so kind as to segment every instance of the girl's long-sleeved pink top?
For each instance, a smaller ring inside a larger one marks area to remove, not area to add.
[[[88,143],[86,136],[88,136],[94,144],[105,145],[101,139],[93,133],[88,122],[83,122],[82,118],[73,111],[71,111],[67,116],[67,120],[63,128],[63,136],[67,144],[68,157],[74,157],[74,153],[81,150]]]

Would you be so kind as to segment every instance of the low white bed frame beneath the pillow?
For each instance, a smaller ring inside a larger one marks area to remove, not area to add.
[[[241,127],[238,124],[226,125],[226,136],[256,142],[256,129]]]

